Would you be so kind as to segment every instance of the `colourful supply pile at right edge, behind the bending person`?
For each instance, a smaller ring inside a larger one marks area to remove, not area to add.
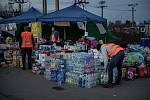
[[[140,45],[128,45],[123,62],[123,78],[134,80],[138,77],[150,76],[150,49]]]

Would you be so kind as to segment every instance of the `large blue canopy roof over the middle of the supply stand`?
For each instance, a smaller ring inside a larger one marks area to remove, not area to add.
[[[105,18],[94,15],[77,5],[72,5],[59,11],[49,13],[39,17],[38,21],[42,22],[99,22],[107,23]]]

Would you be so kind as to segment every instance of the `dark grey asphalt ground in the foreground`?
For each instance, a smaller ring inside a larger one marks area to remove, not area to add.
[[[150,78],[123,80],[113,88],[80,88],[48,81],[31,70],[0,68],[0,100],[150,100]]]

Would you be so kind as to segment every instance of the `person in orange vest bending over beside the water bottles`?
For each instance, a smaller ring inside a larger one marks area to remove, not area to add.
[[[113,68],[117,67],[118,77],[116,84],[120,84],[122,77],[122,62],[124,59],[124,48],[114,43],[98,44],[97,50],[101,52],[104,58],[104,69],[108,71],[108,82],[104,85],[105,88],[112,87]],[[109,63],[109,64],[108,64]]]

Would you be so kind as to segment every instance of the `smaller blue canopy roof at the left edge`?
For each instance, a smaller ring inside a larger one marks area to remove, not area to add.
[[[38,10],[32,7],[28,11],[24,12],[19,16],[7,18],[0,21],[0,24],[33,22],[36,21],[36,19],[40,16],[42,16],[42,14]]]

